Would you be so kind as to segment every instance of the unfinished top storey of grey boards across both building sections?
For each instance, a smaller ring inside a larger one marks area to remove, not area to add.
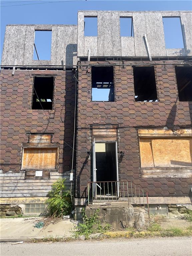
[[[86,19],[94,17],[96,35],[87,36]],[[121,36],[122,18],[131,21],[128,36]],[[163,18],[179,18],[183,48],[166,48]],[[34,59],[36,31],[52,31],[50,60]],[[7,25],[1,65],[76,65],[77,57],[189,58],[191,38],[191,11],[79,11],[77,26]]]

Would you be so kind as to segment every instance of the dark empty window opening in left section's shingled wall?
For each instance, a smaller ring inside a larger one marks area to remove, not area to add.
[[[35,77],[32,109],[52,109],[53,77]]]

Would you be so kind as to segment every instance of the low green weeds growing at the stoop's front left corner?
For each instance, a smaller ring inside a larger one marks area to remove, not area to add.
[[[87,217],[85,214],[85,210],[82,210],[82,219],[83,223],[79,223],[74,230],[75,238],[78,238],[81,235],[85,236],[85,239],[89,238],[89,235],[94,233],[102,233],[109,230],[111,227],[109,225],[102,225],[98,220],[99,209],[91,216]]]

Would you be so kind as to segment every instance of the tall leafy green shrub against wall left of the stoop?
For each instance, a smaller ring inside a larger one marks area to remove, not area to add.
[[[72,210],[72,202],[70,191],[65,189],[66,179],[58,179],[52,184],[52,189],[48,192],[48,199],[46,200],[48,213],[52,217],[62,218],[68,215]]]

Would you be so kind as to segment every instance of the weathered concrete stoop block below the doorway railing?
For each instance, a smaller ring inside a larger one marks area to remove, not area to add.
[[[134,209],[129,206],[86,206],[85,214],[91,217],[99,209],[99,220],[101,224],[109,224],[114,229],[138,227],[145,225],[144,210]]]

